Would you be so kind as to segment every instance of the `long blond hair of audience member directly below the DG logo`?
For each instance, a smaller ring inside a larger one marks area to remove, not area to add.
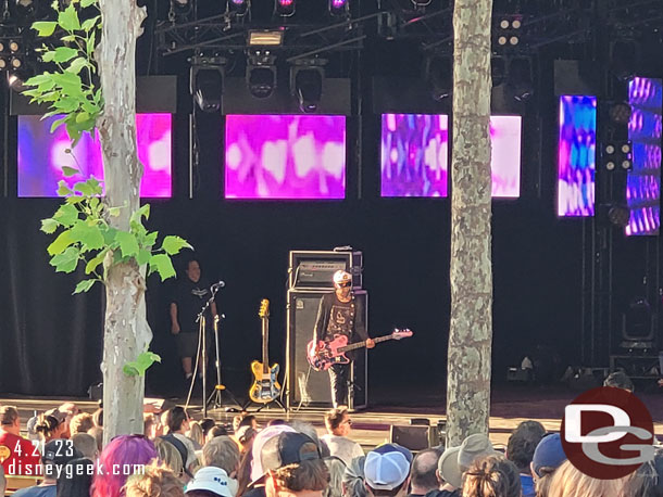
[[[597,480],[565,461],[551,476],[548,497],[620,496],[627,479]]]

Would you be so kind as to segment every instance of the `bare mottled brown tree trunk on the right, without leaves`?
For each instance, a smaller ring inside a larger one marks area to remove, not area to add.
[[[447,384],[449,444],[488,433],[490,265],[490,20],[492,0],[455,0],[451,326]]]

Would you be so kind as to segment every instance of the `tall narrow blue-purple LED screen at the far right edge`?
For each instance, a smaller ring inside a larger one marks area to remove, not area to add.
[[[628,85],[631,106],[628,139],[633,170],[626,182],[630,220],[626,234],[659,234],[661,226],[661,79],[634,78]]]

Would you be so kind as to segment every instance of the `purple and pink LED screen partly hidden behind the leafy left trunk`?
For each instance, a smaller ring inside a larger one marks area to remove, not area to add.
[[[101,142],[88,133],[74,149],[64,126],[50,132],[61,116],[18,116],[18,196],[58,196],[58,181],[74,184],[89,176],[103,179]],[[171,114],[136,115],[138,158],[145,173],[140,196],[170,197],[172,190]],[[80,175],[65,178],[62,167],[75,167]]]

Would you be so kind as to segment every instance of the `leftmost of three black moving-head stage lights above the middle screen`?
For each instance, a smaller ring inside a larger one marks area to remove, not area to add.
[[[221,110],[225,63],[226,60],[221,56],[196,55],[191,59],[189,89],[202,112]]]

